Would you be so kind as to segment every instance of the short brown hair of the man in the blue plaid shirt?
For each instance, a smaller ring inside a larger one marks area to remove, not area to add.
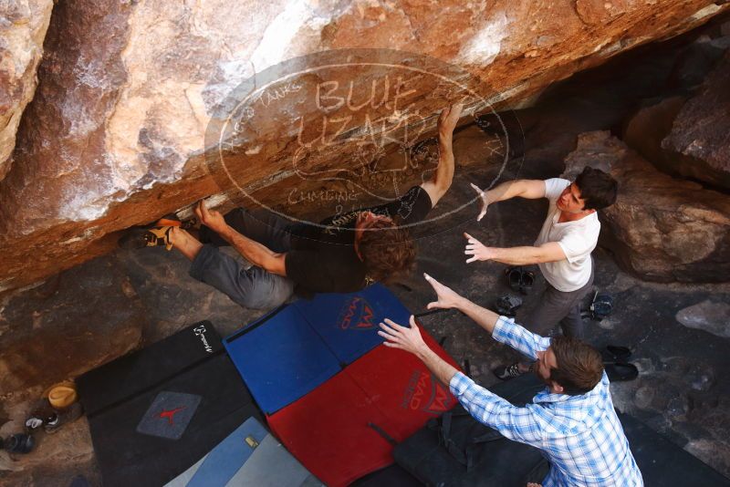
[[[585,394],[600,382],[603,359],[598,350],[576,337],[555,337],[550,348],[558,361],[558,368],[550,369],[550,380],[561,385],[565,394]]]

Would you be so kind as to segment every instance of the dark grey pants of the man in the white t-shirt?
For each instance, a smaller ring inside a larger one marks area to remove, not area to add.
[[[593,270],[590,271],[588,283],[575,291],[565,293],[558,291],[547,283],[545,292],[540,296],[537,307],[523,321],[530,328],[549,326],[554,328],[558,323],[566,337],[583,339],[583,318],[580,317],[580,302],[593,286]]]

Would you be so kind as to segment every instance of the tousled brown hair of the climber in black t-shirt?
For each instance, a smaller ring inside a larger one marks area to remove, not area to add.
[[[411,234],[391,220],[378,220],[363,230],[358,250],[368,277],[381,283],[411,272],[416,262]]]

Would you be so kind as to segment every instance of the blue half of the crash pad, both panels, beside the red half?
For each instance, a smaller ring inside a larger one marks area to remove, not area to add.
[[[381,321],[410,312],[382,285],[280,306],[224,340],[259,407],[273,414],[382,343]]]

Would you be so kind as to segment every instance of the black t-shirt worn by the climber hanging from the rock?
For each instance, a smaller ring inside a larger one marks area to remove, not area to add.
[[[322,226],[296,225],[285,264],[297,295],[352,293],[369,284],[365,264],[354,245],[360,212],[390,216],[403,225],[421,222],[431,208],[428,193],[421,186],[413,186],[398,200],[331,216],[320,223]]]

